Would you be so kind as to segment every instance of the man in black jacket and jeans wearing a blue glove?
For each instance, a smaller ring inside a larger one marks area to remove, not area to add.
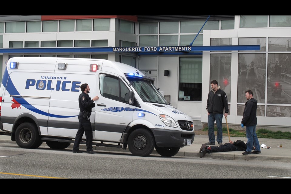
[[[260,154],[260,143],[256,134],[256,125],[257,125],[257,100],[253,98],[253,91],[246,91],[246,101],[245,109],[243,110],[243,120],[242,120],[242,128],[246,126],[246,138],[248,142],[246,143],[247,149],[243,152],[243,155],[247,154]],[[253,152],[252,148],[255,146],[255,150]]]

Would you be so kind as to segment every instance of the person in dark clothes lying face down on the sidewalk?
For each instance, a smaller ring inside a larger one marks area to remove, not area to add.
[[[202,144],[200,148],[200,158],[202,158],[205,153],[211,152],[231,152],[231,151],[245,151],[246,143],[242,140],[237,140],[236,142],[229,141],[229,143],[225,143],[222,146],[206,146]]]

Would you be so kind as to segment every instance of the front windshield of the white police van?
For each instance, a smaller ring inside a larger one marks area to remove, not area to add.
[[[143,102],[169,104],[149,80],[126,77]]]

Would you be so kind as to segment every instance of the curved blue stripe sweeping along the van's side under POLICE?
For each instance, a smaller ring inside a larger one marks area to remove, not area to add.
[[[19,94],[19,92],[15,88],[12,80],[9,77],[7,67],[5,68],[5,71],[4,71],[4,74],[3,74],[2,84],[6,88],[6,90],[8,91],[8,93],[10,95],[21,95],[21,94]],[[57,117],[57,118],[70,118],[70,117],[78,116],[78,115],[74,115],[74,116],[64,116],[64,115],[54,115],[54,114],[50,114],[48,112],[44,112],[42,110],[39,110],[39,109],[35,108],[31,104],[29,104],[24,98],[17,98],[17,102],[19,104],[21,104],[22,106],[24,106],[25,108],[27,108],[28,110],[30,110],[32,112],[35,112],[35,113],[38,113],[38,114],[41,114],[41,115],[45,115],[45,116]]]

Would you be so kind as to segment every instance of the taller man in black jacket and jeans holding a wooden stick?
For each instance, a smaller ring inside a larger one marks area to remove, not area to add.
[[[215,145],[215,135],[214,135],[214,121],[216,121],[217,125],[217,137],[216,140],[218,145],[222,145],[222,117],[223,117],[223,108],[224,108],[224,116],[227,117],[228,113],[228,104],[226,93],[220,89],[218,86],[218,82],[216,80],[212,80],[211,91],[208,93],[207,99],[207,113],[208,113],[208,140],[209,142],[205,143],[206,146],[214,146]]]

